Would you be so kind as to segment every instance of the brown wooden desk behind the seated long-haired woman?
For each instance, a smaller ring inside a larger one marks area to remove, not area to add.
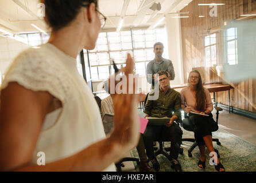
[[[178,87],[172,87],[174,90],[176,90],[177,92],[180,92],[184,87],[187,86],[178,86]],[[213,84],[206,84],[204,85],[205,88],[207,88],[209,90],[210,93],[214,93],[214,102],[216,103],[216,105],[218,105],[218,103],[216,102],[216,96],[215,96],[215,92],[223,92],[223,91],[228,91],[228,109],[230,112],[230,89],[231,86],[230,85],[223,85],[223,84],[219,84],[219,83],[213,83]]]

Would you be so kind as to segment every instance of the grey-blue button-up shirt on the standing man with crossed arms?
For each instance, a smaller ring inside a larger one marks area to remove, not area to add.
[[[160,63],[157,63],[156,59],[153,59],[153,61],[150,61],[148,63],[146,68],[147,80],[149,83],[153,83],[153,74],[158,73],[158,71],[160,70],[168,71],[171,80],[175,78],[172,61],[170,61],[169,59],[162,58],[162,61]],[[149,77],[148,74],[152,74],[152,77]]]

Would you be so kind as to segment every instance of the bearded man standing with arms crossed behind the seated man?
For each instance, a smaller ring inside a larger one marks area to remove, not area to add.
[[[153,61],[150,61],[146,68],[147,80],[154,87],[154,76],[160,71],[167,71],[168,77],[170,80],[175,78],[174,68],[172,65],[172,61],[169,59],[162,58],[162,53],[164,52],[164,45],[161,42],[157,42],[154,44],[154,54],[155,57]],[[150,75],[152,74],[152,75]]]

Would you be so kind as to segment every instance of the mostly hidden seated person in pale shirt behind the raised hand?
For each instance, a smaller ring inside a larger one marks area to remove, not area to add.
[[[104,85],[104,86],[106,86],[106,85]],[[108,90],[108,93],[110,93],[109,90]],[[111,94],[110,94],[110,96],[104,98],[102,100],[101,104],[102,104],[102,116],[104,116],[104,114],[106,114],[106,113],[114,115],[113,100],[112,100]],[[139,160],[141,160],[141,162],[139,163],[139,171],[141,171],[141,172],[153,172],[153,170],[150,168],[150,166],[147,162],[148,157],[146,156],[146,153],[145,153],[145,146],[144,146],[142,135],[139,138],[138,146],[136,148],[137,148],[137,151],[138,151],[138,154],[139,154]],[[121,166],[124,167],[125,165],[122,164]]]

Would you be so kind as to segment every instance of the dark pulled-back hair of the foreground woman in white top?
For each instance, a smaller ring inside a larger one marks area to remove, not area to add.
[[[45,5],[45,22],[55,31],[71,23],[82,6],[95,3],[98,7],[98,0],[41,0],[41,3]]]

